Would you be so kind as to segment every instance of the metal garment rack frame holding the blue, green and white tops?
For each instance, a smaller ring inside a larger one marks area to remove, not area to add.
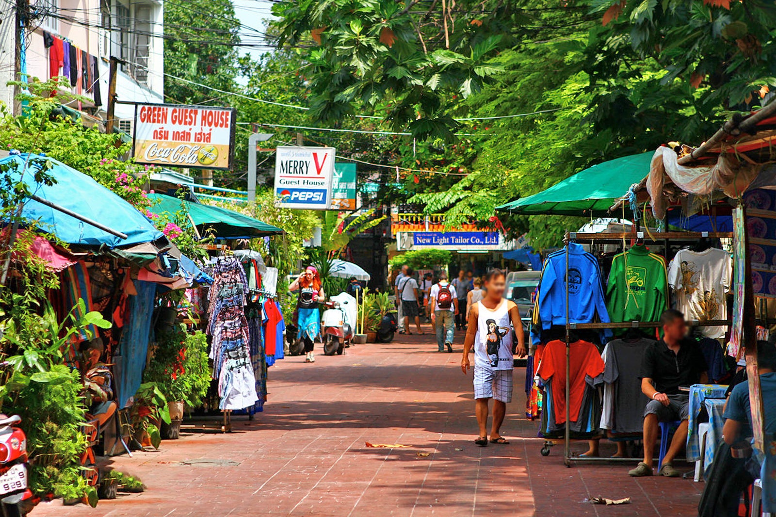
[[[663,241],[665,249],[668,249],[669,241],[685,241],[695,242],[701,238],[733,238],[732,232],[714,232],[714,231],[669,231],[660,234],[647,234],[646,239],[653,242],[660,243]],[[571,456],[571,428],[570,428],[570,389],[571,389],[571,359],[570,359],[570,331],[575,329],[589,328],[589,329],[607,329],[607,328],[659,328],[660,323],[656,321],[624,321],[622,323],[570,323],[569,322],[569,243],[571,241],[598,241],[598,242],[616,242],[622,243],[624,241],[632,239],[645,239],[645,232],[617,232],[617,233],[605,233],[605,234],[591,234],[580,232],[566,232],[563,241],[566,243],[566,276],[563,279],[563,283],[566,286],[566,424],[565,435],[563,439],[563,463],[566,467],[571,467],[572,462],[590,462],[590,463],[611,463],[611,462],[632,462],[638,459],[636,458],[601,458],[591,456]],[[625,251],[625,250],[623,250]],[[712,320],[712,321],[691,321],[692,326],[696,327],[712,327],[729,325],[729,320]]]

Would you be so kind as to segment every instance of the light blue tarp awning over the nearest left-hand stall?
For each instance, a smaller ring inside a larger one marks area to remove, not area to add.
[[[49,162],[47,174],[57,181],[44,185],[35,181],[35,174]],[[164,237],[147,217],[90,176],[76,171],[54,158],[42,154],[11,154],[0,159],[0,174],[10,175],[13,182],[23,181],[30,193],[68,208],[84,217],[127,235],[126,239],[87,224],[43,203],[28,199],[23,217],[37,220],[39,229],[54,234],[68,244],[84,246],[137,245]]]

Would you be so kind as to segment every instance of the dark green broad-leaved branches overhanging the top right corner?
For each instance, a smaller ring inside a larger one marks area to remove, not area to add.
[[[774,84],[776,5],[764,0],[597,0],[606,43],[622,42],[652,57],[666,72],[697,89],[697,104],[744,109]]]

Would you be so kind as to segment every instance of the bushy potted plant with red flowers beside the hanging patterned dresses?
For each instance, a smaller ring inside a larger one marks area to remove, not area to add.
[[[168,401],[171,422],[162,423],[162,437],[178,439],[185,404],[198,405],[210,386],[206,336],[201,331],[189,334],[179,325],[160,335],[152,352],[143,378]]]

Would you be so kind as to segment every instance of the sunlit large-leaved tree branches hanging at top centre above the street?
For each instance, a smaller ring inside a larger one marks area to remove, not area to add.
[[[383,109],[397,130],[453,140],[452,103],[499,71],[491,58],[525,12],[502,2],[329,0],[278,3],[279,43],[318,45],[310,108],[341,120],[358,106]]]

